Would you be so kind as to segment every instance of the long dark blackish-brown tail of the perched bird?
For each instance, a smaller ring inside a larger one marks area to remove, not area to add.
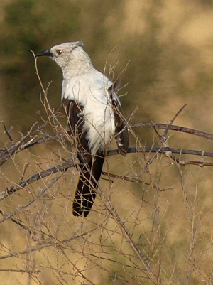
[[[88,164],[83,164],[72,205],[75,216],[87,217],[96,197],[96,189],[102,174],[104,156],[94,156]]]

